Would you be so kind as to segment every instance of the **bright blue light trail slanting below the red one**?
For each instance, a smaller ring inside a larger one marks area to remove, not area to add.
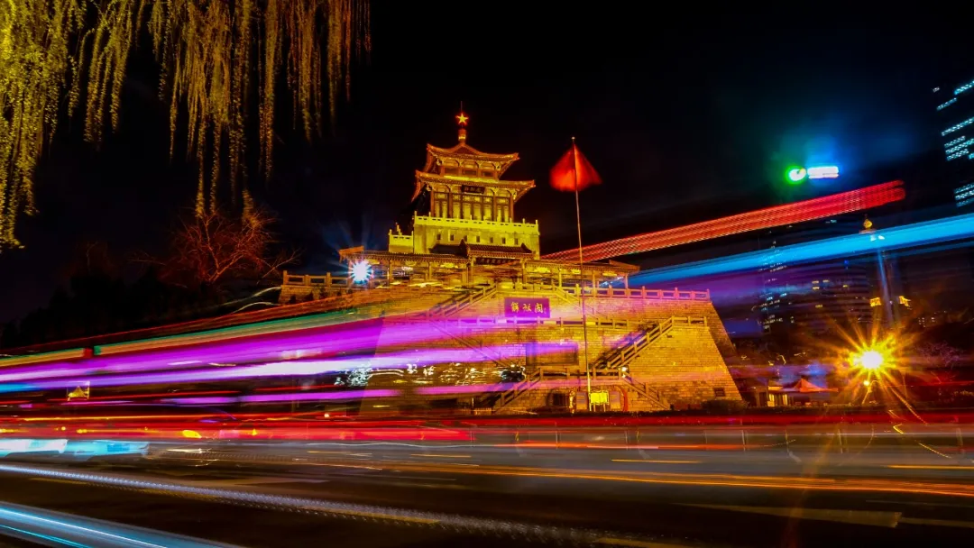
[[[756,271],[765,265],[769,254],[772,252],[775,262],[799,264],[969,237],[974,237],[974,213],[883,229],[872,233],[830,237],[807,243],[776,247],[773,251],[752,251],[731,255],[730,257],[643,271],[633,274],[629,278],[629,284],[644,285],[686,280],[700,276]]]

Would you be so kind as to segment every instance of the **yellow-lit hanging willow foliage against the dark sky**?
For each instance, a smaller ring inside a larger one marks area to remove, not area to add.
[[[132,48],[148,32],[169,102],[169,155],[185,113],[198,165],[197,212],[215,207],[221,180],[243,193],[249,95],[257,92],[260,169],[271,174],[281,73],[295,126],[307,138],[349,93],[349,67],[370,49],[366,0],[0,0],[0,250],[34,212],[33,175],[61,99],[84,111],[85,138],[118,128]],[[225,163],[229,172],[222,174]]]

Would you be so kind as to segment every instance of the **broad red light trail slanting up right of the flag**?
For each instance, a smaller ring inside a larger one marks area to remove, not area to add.
[[[871,207],[900,201],[906,197],[903,181],[891,181],[863,189],[824,196],[812,200],[795,201],[694,223],[685,227],[623,237],[581,248],[585,261],[599,261],[622,255],[644,253],[655,249],[725,237],[745,232],[802,223],[833,215],[861,211]],[[578,249],[568,249],[543,255],[543,259],[570,260],[578,258]]]

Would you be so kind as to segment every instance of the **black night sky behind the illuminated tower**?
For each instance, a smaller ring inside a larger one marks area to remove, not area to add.
[[[930,89],[974,78],[969,32],[946,21],[708,22],[529,4],[373,3],[371,58],[331,132],[308,144],[281,128],[273,179],[250,181],[303,250],[296,270],[335,269],[336,248],[384,243],[426,143],[456,143],[461,101],[469,144],[518,152],[507,178],[537,180],[517,216],[541,222],[546,252],[575,237],[573,197],[547,188],[573,135],[605,180],[582,194],[596,241],[880,182],[939,146]],[[95,151],[80,121],[65,122],[42,160],[26,249],[0,254],[0,320],[44,306],[82,242],[120,258],[157,252],[192,205],[193,167],[169,162],[168,105],[136,63],[120,131]],[[840,164],[842,181],[783,190],[784,165],[819,161]]]

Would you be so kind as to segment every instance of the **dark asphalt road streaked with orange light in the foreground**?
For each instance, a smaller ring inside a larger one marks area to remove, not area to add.
[[[259,454],[3,460],[0,500],[253,547],[960,546],[974,532],[974,468],[957,461],[307,445]]]

